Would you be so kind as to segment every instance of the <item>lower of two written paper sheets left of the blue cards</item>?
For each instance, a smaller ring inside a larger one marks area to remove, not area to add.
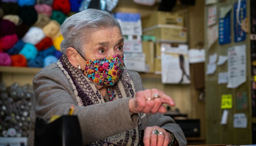
[[[218,31],[218,25],[213,25],[207,28],[207,49],[209,49],[214,42],[218,40],[219,37],[219,31]]]

